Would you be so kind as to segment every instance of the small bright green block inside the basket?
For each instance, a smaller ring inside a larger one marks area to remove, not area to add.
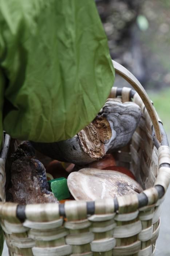
[[[56,178],[48,181],[49,188],[58,200],[70,197],[66,178]]]

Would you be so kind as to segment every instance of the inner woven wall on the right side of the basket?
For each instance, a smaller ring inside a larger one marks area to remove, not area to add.
[[[134,102],[141,107],[142,117],[129,144],[116,152],[116,160],[118,166],[130,169],[142,188],[147,189],[153,187],[158,175],[158,150],[153,143],[150,117],[136,95]]]

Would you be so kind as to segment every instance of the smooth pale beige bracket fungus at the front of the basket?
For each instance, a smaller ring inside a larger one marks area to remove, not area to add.
[[[84,168],[70,173],[67,184],[76,200],[86,201],[136,194],[143,190],[126,174],[95,168]]]

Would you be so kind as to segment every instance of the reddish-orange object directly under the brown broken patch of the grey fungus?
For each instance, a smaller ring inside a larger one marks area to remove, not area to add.
[[[104,170],[107,166],[115,166],[116,161],[111,154],[106,154],[101,160],[94,161],[89,164],[90,168],[97,168]]]

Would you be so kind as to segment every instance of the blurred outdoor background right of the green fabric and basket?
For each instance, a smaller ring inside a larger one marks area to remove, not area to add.
[[[112,59],[141,82],[170,142],[170,1],[96,0]],[[116,77],[114,86],[129,84]],[[162,206],[155,256],[170,255],[170,188]]]

